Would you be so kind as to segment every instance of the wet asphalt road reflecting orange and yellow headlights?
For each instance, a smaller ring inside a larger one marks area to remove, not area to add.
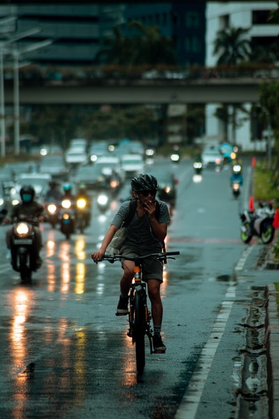
[[[242,203],[232,198],[229,172],[206,170],[197,182],[190,161],[174,170],[180,183],[167,249],[181,256],[169,260],[162,287],[167,352],[146,351],[140,380],[127,319],[115,316],[121,268],[90,258],[118,200],[106,214],[93,200],[90,228],[68,241],[43,224],[44,263],[29,286],[20,284],[1,243],[1,418],[175,417],[246,247],[239,239]],[[215,385],[206,389],[211,402],[218,393],[208,418],[229,418],[233,411],[232,358],[239,337],[230,335],[227,343],[227,357],[218,357],[213,367]]]

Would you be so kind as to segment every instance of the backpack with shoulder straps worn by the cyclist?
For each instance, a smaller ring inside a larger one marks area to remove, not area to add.
[[[156,205],[155,216],[156,216],[156,219],[158,219],[160,215],[160,207],[158,205],[158,200],[156,200],[156,203],[157,205]],[[116,231],[116,233],[114,234],[114,237],[112,237],[112,241],[107,247],[108,253],[112,253],[114,255],[119,253],[119,250],[121,249],[126,239],[126,227],[132,221],[133,216],[135,215],[136,208],[137,208],[137,199],[136,198],[130,199],[128,216],[126,217],[126,220],[123,221],[122,226]],[[163,251],[165,251],[165,241],[162,242],[162,249]]]

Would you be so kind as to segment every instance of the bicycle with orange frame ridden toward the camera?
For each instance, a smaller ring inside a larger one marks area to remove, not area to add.
[[[147,306],[146,297],[146,283],[142,281],[142,265],[141,259],[156,256],[158,260],[164,260],[172,258],[172,256],[179,255],[179,251],[165,251],[160,253],[149,253],[144,256],[133,256],[126,257],[121,255],[107,255],[103,256],[103,260],[108,260],[110,263],[114,263],[116,260],[132,260],[135,262],[134,267],[134,278],[130,285],[129,292],[129,330],[128,337],[132,338],[133,344],[135,344],[135,358],[137,364],[137,374],[141,375],[144,372],[145,365],[145,335],[149,339],[150,353],[162,353],[163,351],[153,350],[153,330],[151,329],[151,313]]]

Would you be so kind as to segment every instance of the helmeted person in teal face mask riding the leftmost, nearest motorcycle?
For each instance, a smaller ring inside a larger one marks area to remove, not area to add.
[[[40,203],[38,203],[35,198],[35,189],[33,189],[32,185],[24,185],[20,189],[20,198],[22,201],[17,205],[13,205],[10,212],[7,214],[6,218],[3,219],[3,223],[10,223],[13,222],[13,219],[17,219],[20,215],[33,216],[38,221],[34,221],[33,229],[35,232],[35,247],[37,250],[37,254],[35,255],[36,265],[40,267],[42,264],[42,259],[40,258],[40,249],[43,247],[43,239],[42,234],[39,228],[39,222],[44,221],[43,211],[44,207]],[[10,245],[12,242],[12,234],[13,228],[10,228],[6,231],[6,245],[8,249],[10,249]]]

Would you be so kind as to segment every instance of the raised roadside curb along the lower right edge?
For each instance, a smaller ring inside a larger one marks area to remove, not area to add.
[[[269,396],[269,416],[279,418],[279,320],[277,298],[273,284],[266,286],[266,356]]]

